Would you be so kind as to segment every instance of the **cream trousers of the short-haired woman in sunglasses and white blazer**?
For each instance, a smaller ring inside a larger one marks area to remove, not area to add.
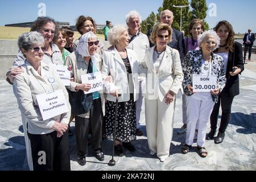
[[[170,105],[145,98],[147,141],[150,152],[165,160],[170,154],[175,99]]]

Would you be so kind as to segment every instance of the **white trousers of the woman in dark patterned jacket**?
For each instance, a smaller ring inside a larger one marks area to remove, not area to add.
[[[210,121],[214,102],[212,100],[202,101],[187,97],[187,134],[186,144],[192,145],[195,136],[196,125],[198,126],[197,145],[204,147],[207,123]]]

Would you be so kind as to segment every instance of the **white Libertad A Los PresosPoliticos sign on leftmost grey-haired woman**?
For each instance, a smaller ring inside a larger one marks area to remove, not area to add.
[[[68,105],[63,90],[36,95],[43,121],[67,113]]]

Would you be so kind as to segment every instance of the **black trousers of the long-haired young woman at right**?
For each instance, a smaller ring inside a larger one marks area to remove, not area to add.
[[[233,97],[228,97],[225,93],[221,93],[218,96],[218,102],[214,105],[212,114],[210,114],[210,129],[216,130],[217,129],[217,122],[218,122],[218,113],[220,110],[221,105],[221,123],[220,128],[218,131],[224,133],[226,131],[226,127],[228,127],[230,117],[231,117],[231,106],[233,102]]]

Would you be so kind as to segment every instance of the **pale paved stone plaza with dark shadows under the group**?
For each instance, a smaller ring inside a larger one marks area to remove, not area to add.
[[[69,138],[71,149],[71,169],[79,171],[88,170],[256,170],[256,56],[254,61],[245,65],[242,73],[240,92],[235,97],[232,107],[232,118],[226,137],[221,144],[214,144],[207,140],[205,147],[209,154],[201,158],[197,153],[196,143],[191,152],[181,154],[181,146],[185,142],[185,134],[178,135],[177,130],[182,126],[181,100],[176,101],[174,136],[172,138],[170,157],[160,162],[156,156],[151,156],[148,151],[146,128],[143,137],[135,140],[137,149],[131,153],[125,150],[125,156],[114,156],[116,165],[108,166],[112,158],[112,141],[104,140],[104,162],[99,162],[92,154],[89,155],[86,165],[81,167],[77,162],[75,135]],[[144,109],[144,106],[143,106]],[[221,112],[220,112],[221,114]],[[144,111],[142,113],[144,121]],[[75,132],[74,123],[71,130]],[[208,125],[207,131],[210,130]],[[12,86],[5,80],[0,81],[0,170],[28,170],[26,162],[26,147],[20,111]]]

